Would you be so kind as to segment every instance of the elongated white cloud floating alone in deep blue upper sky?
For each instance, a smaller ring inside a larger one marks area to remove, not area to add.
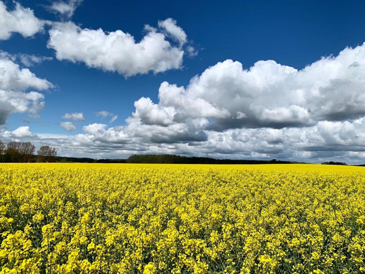
[[[131,34],[122,30],[104,32],[101,28],[81,28],[73,22],[55,23],[49,31],[47,46],[55,50],[58,60],[84,62],[88,67],[125,76],[178,69],[183,62],[181,46],[186,34],[173,19],[159,24],[163,32],[146,25],[146,35],[136,42]],[[170,43],[165,33],[179,45]]]

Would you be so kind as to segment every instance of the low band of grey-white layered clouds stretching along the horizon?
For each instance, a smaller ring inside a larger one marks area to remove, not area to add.
[[[37,147],[48,144],[61,156],[125,158],[136,153],[173,153],[231,159],[289,159],[293,161],[346,161],[365,163],[365,118],[354,122],[321,121],[305,128],[228,129],[205,131],[204,123],[170,126],[143,125],[130,118],[126,126],[108,128],[94,123],[83,127],[84,134],[16,134],[30,138]],[[28,130],[24,130],[28,132]],[[1,136],[1,133],[0,133]],[[4,141],[15,138],[3,133]]]

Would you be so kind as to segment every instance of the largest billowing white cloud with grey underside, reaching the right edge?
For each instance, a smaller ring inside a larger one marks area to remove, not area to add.
[[[354,65],[356,64],[356,65]],[[164,82],[158,103],[142,97],[133,117],[146,125],[209,119],[205,129],[313,126],[365,115],[365,44],[297,70],[275,61],[243,69],[226,60],[191,79],[187,88]]]

